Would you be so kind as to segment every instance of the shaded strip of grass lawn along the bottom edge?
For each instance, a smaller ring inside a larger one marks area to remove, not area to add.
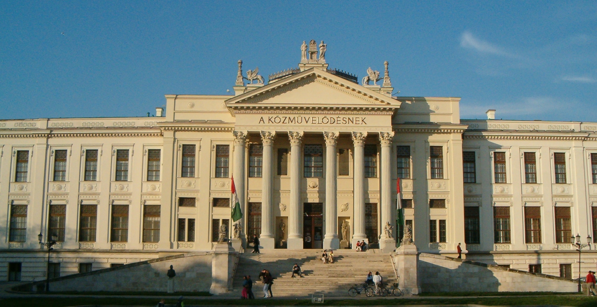
[[[0,306],[11,307],[64,307],[80,305],[131,305],[131,306],[155,306],[158,303],[156,299],[128,299],[120,297],[112,298],[54,298],[54,297],[27,297],[18,299],[0,300]],[[166,299],[167,304],[176,303],[175,297]],[[485,306],[500,305],[561,305],[577,307],[595,307],[597,306],[597,297],[587,297],[582,295],[549,295],[549,296],[525,296],[525,297],[458,297],[439,299],[433,297],[413,297],[407,299],[337,299],[326,300],[325,306],[376,306],[376,305],[460,305],[460,304],[478,304]],[[310,303],[307,299],[294,300],[214,300],[214,299],[193,299],[184,300],[184,305],[259,305],[259,306],[309,306],[321,304]]]

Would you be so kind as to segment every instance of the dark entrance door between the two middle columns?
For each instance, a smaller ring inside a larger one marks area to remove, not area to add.
[[[322,248],[324,237],[323,204],[306,202],[303,214],[303,248]]]

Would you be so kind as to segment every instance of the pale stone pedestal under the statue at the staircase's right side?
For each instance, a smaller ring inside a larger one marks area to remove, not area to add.
[[[396,268],[398,268],[398,287],[405,295],[421,293],[417,277],[418,251],[414,244],[401,245],[394,254]]]

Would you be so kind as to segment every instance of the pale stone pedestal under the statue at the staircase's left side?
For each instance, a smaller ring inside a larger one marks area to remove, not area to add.
[[[229,291],[228,281],[232,268],[230,256],[233,255],[232,246],[229,243],[217,244],[211,258],[211,294],[227,293]]]

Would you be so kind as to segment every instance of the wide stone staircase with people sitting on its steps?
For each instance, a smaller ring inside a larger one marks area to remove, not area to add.
[[[320,259],[321,253],[322,250],[262,250],[260,254],[241,254],[233,281],[233,291],[227,296],[239,297],[242,277],[251,275],[255,282],[253,293],[256,297],[263,297],[263,284],[259,280],[262,269],[268,269],[274,278],[274,297],[305,297],[312,293],[348,296],[348,289],[354,284],[364,283],[370,271],[373,274],[379,271],[384,283],[396,281],[392,259],[389,254],[381,254],[379,250],[336,250],[336,262],[328,264],[324,264]],[[291,277],[294,263],[301,266],[303,278]]]

